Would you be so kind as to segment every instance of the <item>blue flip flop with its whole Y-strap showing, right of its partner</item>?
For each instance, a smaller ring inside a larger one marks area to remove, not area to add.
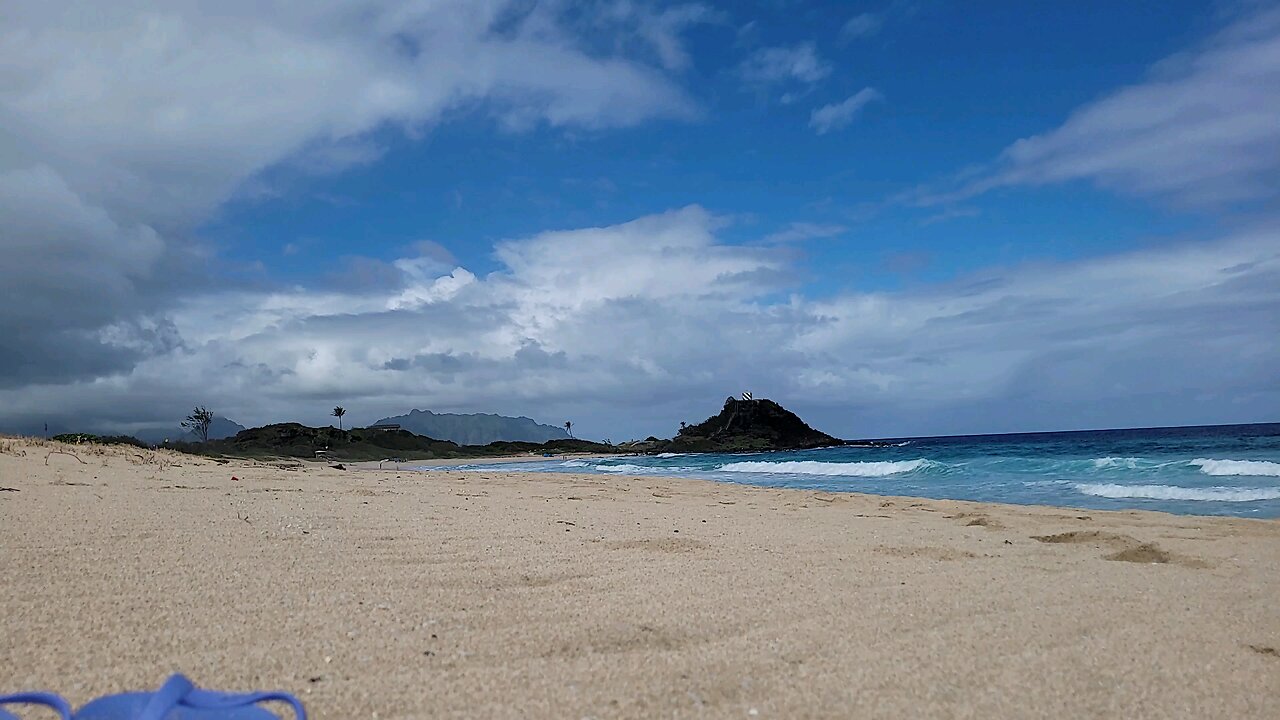
[[[280,720],[274,712],[257,706],[273,700],[293,707],[297,720],[307,720],[302,703],[288,693],[202,691],[182,675],[173,675],[156,692],[122,693],[90,701],[72,720]]]

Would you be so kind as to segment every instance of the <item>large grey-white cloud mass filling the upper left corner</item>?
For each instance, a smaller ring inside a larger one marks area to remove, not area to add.
[[[696,113],[659,68],[586,47],[562,10],[497,0],[6,3],[0,384],[78,377],[83,356],[101,356],[95,372],[128,368],[136,348],[93,331],[207,282],[212,260],[195,229],[233,195],[271,195],[273,167],[369,163],[381,152],[375,131],[425,132],[460,111],[513,131]],[[700,13],[636,12],[593,40],[652,44],[678,65],[680,32]]]

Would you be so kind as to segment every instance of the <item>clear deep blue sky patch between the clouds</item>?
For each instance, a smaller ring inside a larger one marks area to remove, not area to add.
[[[390,260],[424,238],[488,272],[495,269],[493,243],[503,238],[698,202],[741,218],[732,236],[742,242],[792,223],[826,225],[832,234],[803,250],[815,270],[809,291],[823,292],[846,282],[820,272],[833,265],[851,265],[859,287],[892,286],[992,263],[1111,251],[1204,222],[1088,183],[1000,193],[957,209],[883,205],[988,163],[1011,141],[1140,81],[1153,60],[1212,28],[1213,6],[759,3],[716,13],[687,32],[689,67],[676,77],[696,118],[621,131],[511,132],[485,108],[463,108],[422,137],[375,133],[380,156],[366,165],[333,177],[282,177],[283,196],[232,202],[204,234],[229,258],[259,260],[271,277],[298,282],[332,272],[338,258]],[[864,13],[884,14],[874,35],[842,29]],[[744,81],[753,53],[805,45],[826,68],[819,81]],[[814,132],[815,108],[865,87],[883,100],[847,127]],[[788,92],[803,97],[783,102]],[[983,241],[970,242],[974,236]],[[867,268],[867,252],[883,266]],[[895,263],[900,255],[914,261]],[[895,272],[904,266],[911,278]]]

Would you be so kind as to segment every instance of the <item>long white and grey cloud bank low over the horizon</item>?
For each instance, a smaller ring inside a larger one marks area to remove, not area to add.
[[[6,388],[0,404],[28,425],[56,407],[128,429],[195,402],[321,423],[343,404],[356,421],[499,410],[643,437],[741,389],[845,434],[1261,420],[1280,400],[1266,228],[809,300],[788,295],[785,249],[726,245],[724,223],[689,206],[499,243],[503,269],[484,277],[407,258],[376,291],[191,296],[168,315],[180,342],[129,373]],[[1158,410],[1126,414],[1133,397]],[[1018,424],[1001,421],[1011,406]],[[1204,406],[1234,415],[1193,414]]]

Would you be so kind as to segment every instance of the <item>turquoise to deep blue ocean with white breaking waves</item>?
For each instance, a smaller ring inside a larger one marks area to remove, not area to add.
[[[892,447],[457,465],[1098,510],[1280,518],[1280,423],[897,438]]]

